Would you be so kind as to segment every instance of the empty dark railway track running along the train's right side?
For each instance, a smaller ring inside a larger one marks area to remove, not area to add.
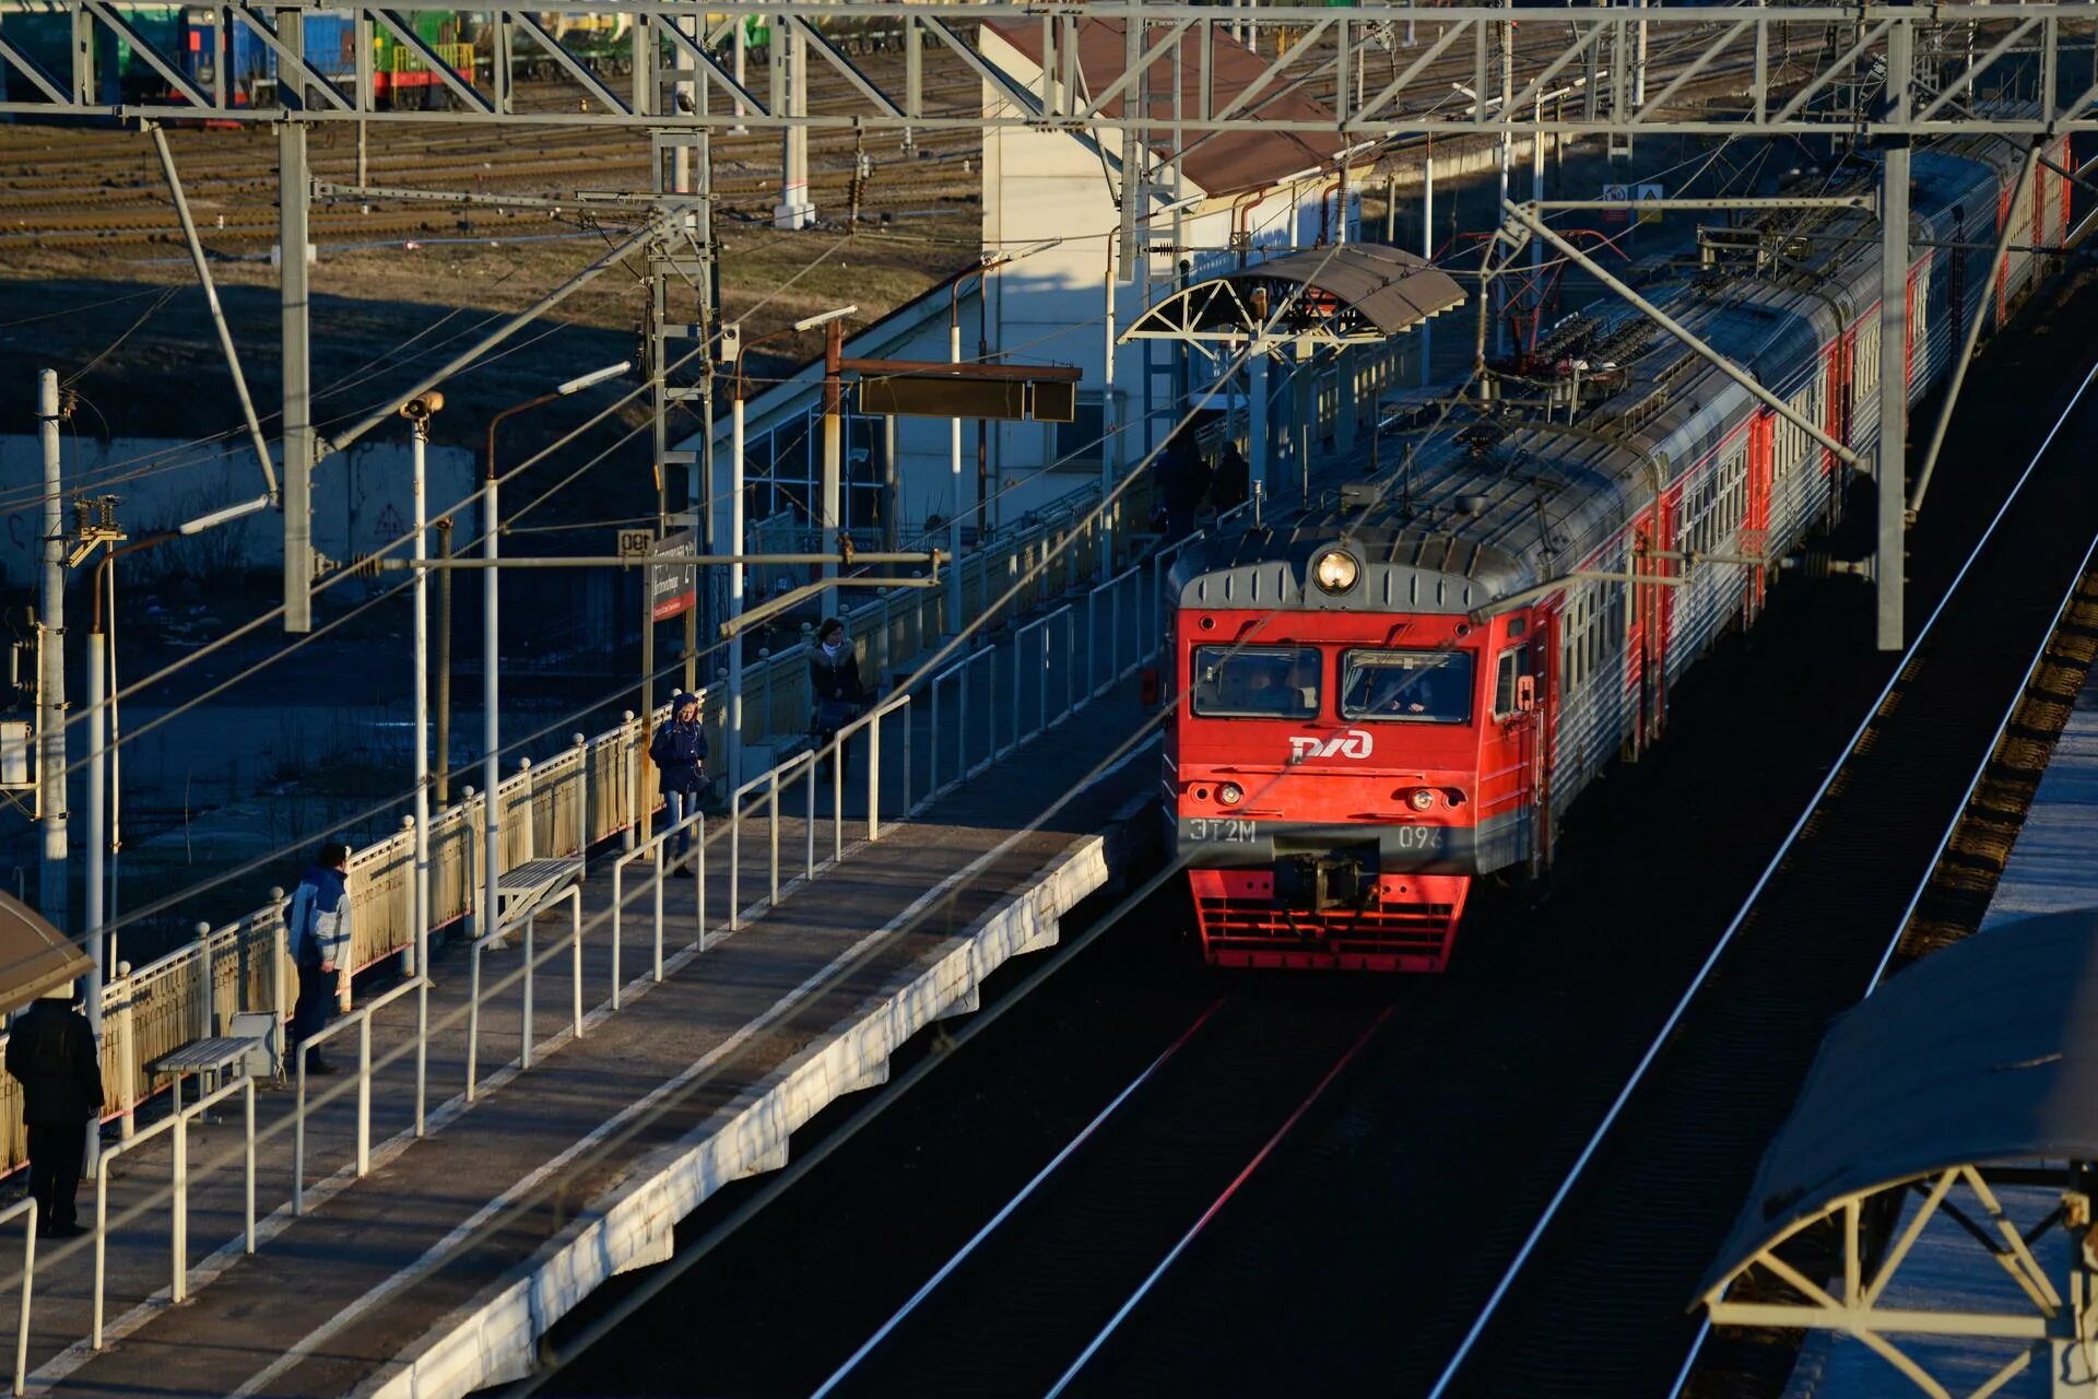
[[[1827,1021],[1878,980],[2092,550],[2098,369],[2048,434],[1433,1393],[1666,1393]]]

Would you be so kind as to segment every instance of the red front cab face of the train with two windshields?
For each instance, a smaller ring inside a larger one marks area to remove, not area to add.
[[[1529,858],[1529,619],[1175,617],[1166,801],[1219,967],[1441,971]]]

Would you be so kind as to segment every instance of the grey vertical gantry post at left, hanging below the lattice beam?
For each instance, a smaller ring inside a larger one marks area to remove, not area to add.
[[[300,42],[300,13],[277,10]],[[277,128],[277,300],[283,336],[283,629],[313,631],[313,380],[308,350],[306,124]]]

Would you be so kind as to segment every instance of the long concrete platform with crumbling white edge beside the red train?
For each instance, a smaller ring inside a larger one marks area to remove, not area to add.
[[[468,959],[432,956],[430,1120],[413,1139],[413,996],[373,1017],[373,1158],[352,1179],[355,1074],[308,1089],[306,1214],[290,1212],[292,1093],[258,1097],[256,1256],[239,1252],[239,1114],[189,1141],[191,1300],[168,1303],[170,1141],[111,1177],[109,1344],[94,1353],[90,1240],[40,1250],[31,1393],[63,1395],[466,1395],[516,1378],[539,1334],[604,1277],[669,1256],[671,1227],[738,1177],[778,1168],[789,1135],[843,1093],[879,1084],[890,1053],[942,1015],[976,1007],[1007,959],[1045,948],[1057,919],[1106,887],[1114,833],[1156,784],[1148,719],[1118,686],[938,799],[883,820],[860,843],[848,805],[845,860],[726,933],[728,839],[709,822],[707,946],[697,881],[665,881],[665,980],[652,982],[652,889],[629,866],[621,919],[623,1009],[611,1011],[611,858],[583,887],[583,1038],[569,912],[541,917],[537,1057],[518,1070],[522,952],[485,954],[480,1093],[466,1103]],[[950,724],[952,719],[948,719]],[[917,753],[923,791],[929,711],[883,734],[890,780]],[[854,759],[864,787],[864,751]],[[1036,831],[1022,828],[1074,793]],[[827,797],[822,797],[827,801]],[[887,797],[885,797],[887,801]],[[820,805],[818,856],[831,839]],[[778,822],[783,879],[799,875],[804,816]],[[860,843],[856,849],[854,843]],[[741,849],[741,902],[762,898],[770,828]],[[329,1057],[357,1063],[355,1034]],[[510,1061],[510,1063],[506,1063]],[[334,1175],[331,1175],[334,1172]],[[82,1189],[84,1219],[92,1187]],[[231,1240],[231,1244],[229,1244]],[[224,1248],[220,1248],[224,1244]],[[218,1252],[212,1252],[212,1250]],[[6,1240],[0,1240],[6,1256]],[[19,1258],[19,1254],[17,1254]],[[0,1296],[19,1296],[19,1261]],[[4,1317],[13,1321],[13,1313]]]

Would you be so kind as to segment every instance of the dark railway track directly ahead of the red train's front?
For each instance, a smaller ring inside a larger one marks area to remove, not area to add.
[[[1410,990],[1215,1003],[816,1393],[1055,1393]]]

